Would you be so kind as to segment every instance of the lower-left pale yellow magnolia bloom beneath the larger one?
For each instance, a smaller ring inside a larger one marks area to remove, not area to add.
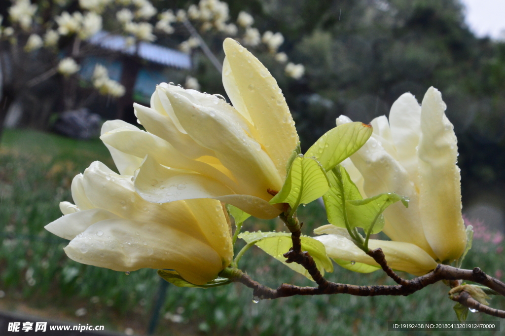
[[[137,158],[114,149],[111,153],[120,171],[138,167]],[[83,264],[116,271],[175,269],[195,284],[215,279],[233,258],[221,203],[210,199],[150,203],[136,193],[132,178],[93,162],[72,181],[75,205],[62,202],[64,216],[45,228],[70,239],[65,253]]]

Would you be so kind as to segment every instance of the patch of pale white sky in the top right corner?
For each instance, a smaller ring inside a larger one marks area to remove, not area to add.
[[[443,0],[442,0],[443,1]],[[466,22],[479,37],[503,39],[505,0],[461,0],[466,7]],[[501,37],[500,37],[501,35]]]

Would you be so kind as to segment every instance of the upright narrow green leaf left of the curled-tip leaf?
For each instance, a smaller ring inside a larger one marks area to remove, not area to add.
[[[346,228],[344,200],[362,200],[363,197],[344,167],[337,166],[327,174],[331,187],[323,196],[323,202],[328,221],[335,226]]]

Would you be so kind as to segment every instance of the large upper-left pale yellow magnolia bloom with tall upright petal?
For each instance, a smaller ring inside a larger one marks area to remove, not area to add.
[[[150,108],[134,105],[147,132],[118,126],[101,138],[143,160],[134,183],[149,202],[213,198],[274,218],[281,210],[268,203],[268,189],[282,187],[298,135],[267,68],[233,39],[224,51],[223,85],[233,106],[218,94],[162,83]]]

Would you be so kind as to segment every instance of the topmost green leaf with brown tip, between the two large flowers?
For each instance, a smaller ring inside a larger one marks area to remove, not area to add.
[[[361,122],[337,126],[323,134],[305,156],[315,157],[329,171],[365,145],[372,131],[371,125]]]

